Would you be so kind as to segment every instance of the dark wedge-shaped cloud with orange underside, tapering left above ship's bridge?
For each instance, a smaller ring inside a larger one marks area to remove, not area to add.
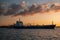
[[[24,9],[24,11],[21,11],[20,13],[14,15],[14,16],[17,16],[17,15],[22,15],[22,16],[32,15],[32,14],[36,14],[40,11],[41,11],[40,6],[36,7],[35,5],[32,5],[32,6],[27,7],[26,9]]]

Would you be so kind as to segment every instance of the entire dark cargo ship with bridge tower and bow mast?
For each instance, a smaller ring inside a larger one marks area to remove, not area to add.
[[[11,28],[18,28],[18,29],[54,29],[56,25],[50,24],[50,25],[28,25],[28,26],[24,26],[23,22],[20,21],[16,21],[16,23],[14,25],[11,25]]]

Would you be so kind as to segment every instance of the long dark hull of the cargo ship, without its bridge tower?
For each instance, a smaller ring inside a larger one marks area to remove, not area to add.
[[[55,25],[44,25],[44,26],[14,26],[16,29],[54,29]]]

